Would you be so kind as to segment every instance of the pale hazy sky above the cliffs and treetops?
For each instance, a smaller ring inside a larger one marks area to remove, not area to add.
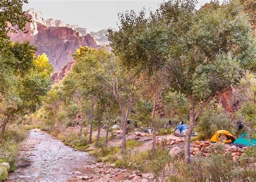
[[[35,9],[43,13],[44,18],[63,20],[69,24],[77,24],[88,31],[99,31],[108,27],[117,27],[118,12],[135,10],[143,7],[156,10],[163,0],[28,0],[23,9]],[[165,0],[166,1],[166,0]],[[198,0],[198,8],[210,0]]]

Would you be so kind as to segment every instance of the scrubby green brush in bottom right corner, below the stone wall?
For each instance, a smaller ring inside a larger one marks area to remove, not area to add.
[[[218,180],[248,180],[255,179],[253,169],[241,169],[233,160],[223,154],[214,154],[211,157],[194,157],[191,164],[183,160],[174,160],[171,168],[174,169],[168,180],[173,181],[218,181]],[[192,171],[192,172],[191,172]]]

